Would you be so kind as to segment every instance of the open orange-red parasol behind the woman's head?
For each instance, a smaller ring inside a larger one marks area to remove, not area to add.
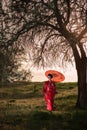
[[[62,73],[55,71],[55,70],[46,71],[45,72],[46,77],[48,76],[48,74],[53,75],[52,81],[54,81],[54,82],[61,82],[65,79],[65,76]]]

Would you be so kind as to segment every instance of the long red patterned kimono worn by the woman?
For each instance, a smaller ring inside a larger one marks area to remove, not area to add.
[[[53,103],[55,93],[56,93],[55,83],[53,81],[46,81],[43,87],[43,94],[47,104],[47,110],[49,111],[54,110]]]

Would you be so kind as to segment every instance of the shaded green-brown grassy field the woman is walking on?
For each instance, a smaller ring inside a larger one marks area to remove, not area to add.
[[[0,87],[0,130],[86,130],[87,110],[75,108],[76,83],[59,83],[55,111],[46,110],[43,83]]]

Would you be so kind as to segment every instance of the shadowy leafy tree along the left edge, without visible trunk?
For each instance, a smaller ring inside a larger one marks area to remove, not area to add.
[[[8,9],[9,4],[3,2],[0,1],[0,83],[29,81],[32,78],[30,69],[20,70],[21,60],[24,60],[24,49],[18,42],[12,42],[15,40],[11,41],[15,25]],[[10,46],[11,42],[13,44]]]

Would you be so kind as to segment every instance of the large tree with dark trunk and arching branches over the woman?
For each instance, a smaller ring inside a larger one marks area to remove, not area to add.
[[[81,0],[13,0],[10,1],[8,9],[9,17],[12,19],[10,21],[12,29],[11,37],[7,40],[8,44],[4,42],[4,46],[11,46],[19,36],[23,36],[21,38],[23,40],[28,35],[29,47],[32,51],[30,55],[33,55],[34,63],[52,64],[60,55],[64,61],[72,61],[74,57],[78,75],[76,106],[86,107],[86,0],[83,2]]]

